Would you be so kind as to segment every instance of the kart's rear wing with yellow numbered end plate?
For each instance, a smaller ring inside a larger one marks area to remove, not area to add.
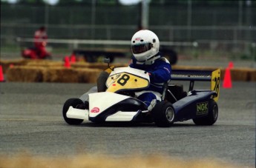
[[[217,70],[172,70],[171,81],[190,81],[189,91],[193,90],[194,81],[211,81],[211,90],[220,96],[220,69]]]

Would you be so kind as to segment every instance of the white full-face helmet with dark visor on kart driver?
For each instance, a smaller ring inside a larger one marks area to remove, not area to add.
[[[131,38],[131,52],[140,62],[148,61],[156,56],[159,47],[160,42],[157,35],[150,30],[140,30]]]

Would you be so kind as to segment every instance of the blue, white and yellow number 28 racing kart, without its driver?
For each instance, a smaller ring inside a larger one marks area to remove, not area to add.
[[[174,80],[190,81],[188,93],[182,84],[171,84]],[[62,115],[68,124],[134,121],[170,127],[174,122],[190,119],[196,125],[212,125],[217,121],[220,70],[172,70],[171,81],[164,84],[162,101],[151,111],[134,94],[149,87],[147,72],[119,67],[102,81],[103,85],[65,102]],[[211,81],[211,90],[194,90],[194,81]]]

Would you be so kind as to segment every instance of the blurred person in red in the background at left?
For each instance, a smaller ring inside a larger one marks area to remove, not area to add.
[[[47,50],[45,48],[46,44],[47,44],[46,28],[42,26],[39,28],[39,30],[36,30],[34,35],[34,45],[36,48],[37,58],[46,58],[47,56],[50,56],[50,54],[47,53]]]

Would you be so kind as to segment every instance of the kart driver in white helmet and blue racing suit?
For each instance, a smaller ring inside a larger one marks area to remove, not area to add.
[[[133,57],[129,67],[145,70],[150,76],[150,87],[135,93],[148,110],[152,110],[157,101],[161,101],[163,84],[171,79],[171,64],[159,52],[160,41],[150,30],[140,30],[131,38]]]

